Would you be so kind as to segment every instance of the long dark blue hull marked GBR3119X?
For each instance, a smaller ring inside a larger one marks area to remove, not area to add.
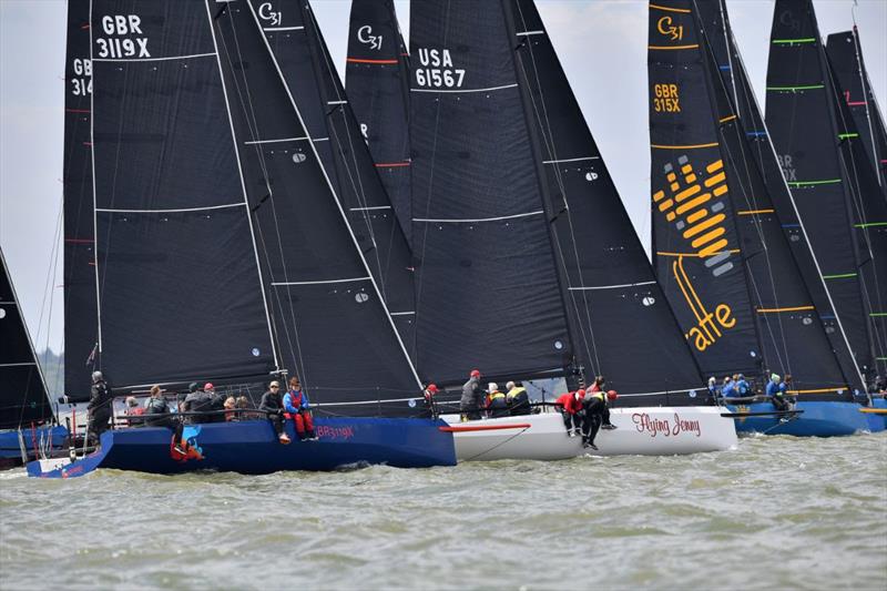
[[[317,418],[318,440],[277,441],[267,420],[188,425],[183,438],[187,456],[172,449],[172,431],[161,427],[121,429],[102,434],[101,448],[61,469],[43,472],[28,463],[28,475],[42,478],[83,476],[99,468],[173,475],[216,470],[263,475],[279,470],[334,470],[349,465],[385,463],[398,468],[455,466],[452,435],[442,420]]]

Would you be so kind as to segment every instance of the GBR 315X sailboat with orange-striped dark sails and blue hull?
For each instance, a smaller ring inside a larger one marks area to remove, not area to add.
[[[744,406],[738,430],[867,428],[718,73],[699,2],[650,3],[650,132],[659,277],[705,374],[791,374],[791,416]],[[708,9],[711,10],[711,4]],[[861,379],[859,381],[861,384]],[[742,416],[746,415],[746,416]]]

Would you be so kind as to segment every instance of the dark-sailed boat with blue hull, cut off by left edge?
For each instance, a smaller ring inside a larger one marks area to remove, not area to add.
[[[58,450],[68,429],[55,422],[43,370],[0,251],[0,468]]]

